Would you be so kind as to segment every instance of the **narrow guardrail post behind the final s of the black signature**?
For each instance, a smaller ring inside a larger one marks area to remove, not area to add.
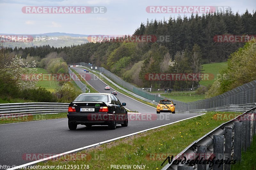
[[[232,127],[225,129],[225,160],[231,160],[231,146],[232,146]],[[224,169],[230,170],[231,165],[225,164]]]

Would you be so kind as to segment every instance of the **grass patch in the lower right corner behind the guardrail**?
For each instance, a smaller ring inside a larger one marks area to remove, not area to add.
[[[256,136],[254,135],[250,148],[242,152],[241,162],[231,165],[232,170],[255,170],[256,169]]]

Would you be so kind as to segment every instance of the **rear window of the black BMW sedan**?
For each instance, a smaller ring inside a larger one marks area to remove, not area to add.
[[[105,94],[82,94],[74,101],[103,101],[108,102],[108,95]]]

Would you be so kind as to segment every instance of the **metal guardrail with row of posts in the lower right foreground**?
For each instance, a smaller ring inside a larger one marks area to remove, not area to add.
[[[239,115],[235,119],[223,123],[216,129],[213,129],[208,134],[204,135],[194,143],[190,144],[186,149],[175,156],[170,163],[168,157],[163,163],[167,164],[162,170],[223,170],[230,169],[230,164],[217,163],[217,159],[229,162],[236,160],[236,163],[241,160],[241,152],[246,151],[250,147],[252,137],[256,131],[256,107]],[[198,158],[197,158],[198,157]],[[215,159],[213,159],[215,157]],[[171,160],[171,157],[169,157]],[[195,164],[185,165],[184,161],[196,160]],[[202,161],[199,161],[202,159]],[[215,160],[212,167],[210,163]],[[182,164],[183,161],[183,164]],[[176,162],[176,163],[175,163]],[[201,162],[201,163],[200,163]],[[231,162],[232,163],[232,162]],[[219,167],[220,166],[220,167]]]

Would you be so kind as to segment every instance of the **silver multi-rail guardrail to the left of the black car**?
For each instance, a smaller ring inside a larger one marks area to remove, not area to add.
[[[64,113],[68,112],[68,105],[69,103],[4,103],[0,104],[0,116]]]

